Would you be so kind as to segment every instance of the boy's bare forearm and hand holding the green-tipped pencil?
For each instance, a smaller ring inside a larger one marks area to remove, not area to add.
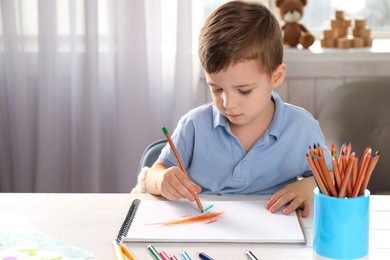
[[[179,167],[168,168],[161,160],[157,160],[149,169],[146,189],[151,194],[161,195],[169,200],[186,198],[191,201],[201,191]]]

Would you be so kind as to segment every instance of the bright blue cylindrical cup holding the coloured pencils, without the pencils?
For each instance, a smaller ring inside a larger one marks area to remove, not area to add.
[[[370,191],[354,198],[326,196],[314,189],[315,259],[368,259]]]

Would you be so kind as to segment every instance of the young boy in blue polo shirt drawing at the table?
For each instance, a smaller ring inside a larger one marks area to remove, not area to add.
[[[191,201],[201,191],[273,194],[271,212],[300,207],[308,216],[315,181],[305,155],[308,145],[325,142],[310,113],[273,91],[286,73],[274,15],[260,3],[227,2],[206,20],[199,56],[213,102],[184,115],[172,134],[189,177],[167,145],[147,174],[148,192]]]

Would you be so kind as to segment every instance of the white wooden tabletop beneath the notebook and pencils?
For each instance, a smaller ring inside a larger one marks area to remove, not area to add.
[[[116,259],[112,241],[133,199],[159,199],[149,194],[0,193],[0,216],[14,217],[56,239],[91,251],[94,259]],[[201,200],[253,199],[254,196],[200,196]],[[204,251],[214,259],[248,259],[251,250],[259,259],[313,259],[312,217],[302,218],[306,245],[300,244],[153,244],[176,255],[186,251],[198,259]],[[141,260],[153,259],[145,243],[127,246]],[[370,260],[390,259],[390,196],[370,200]]]

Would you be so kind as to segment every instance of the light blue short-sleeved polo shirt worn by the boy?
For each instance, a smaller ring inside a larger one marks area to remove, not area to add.
[[[180,119],[172,140],[191,180],[203,193],[273,194],[298,176],[312,175],[306,152],[314,143],[320,143],[331,168],[318,121],[303,108],[284,103],[276,92],[272,98],[274,118],[248,153],[213,103],[194,108]],[[178,165],[169,145],[159,159],[168,167]]]

